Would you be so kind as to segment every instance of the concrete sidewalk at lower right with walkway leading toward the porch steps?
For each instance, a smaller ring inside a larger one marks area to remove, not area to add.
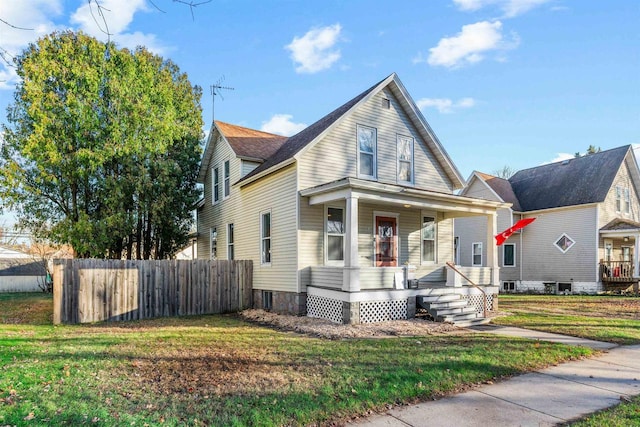
[[[398,407],[384,415],[349,425],[553,426],[640,394],[640,345],[615,347],[599,341],[510,327],[484,326],[474,329],[483,333],[504,333],[569,345],[586,345],[604,349],[607,353],[485,385],[448,398]]]

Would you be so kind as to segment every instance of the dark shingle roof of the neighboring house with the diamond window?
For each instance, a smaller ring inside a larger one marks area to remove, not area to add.
[[[630,145],[625,145],[524,169],[509,178],[509,183],[523,212],[600,203],[607,197],[630,149]]]

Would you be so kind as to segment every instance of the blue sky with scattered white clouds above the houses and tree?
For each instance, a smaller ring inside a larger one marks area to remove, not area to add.
[[[290,134],[396,72],[465,178],[640,144],[637,0],[97,1],[112,40],[203,87],[206,129],[223,77],[216,119]],[[0,0],[0,19],[32,29],[0,22],[5,56],[55,29],[106,37],[87,0]],[[2,111],[15,82],[1,65]]]

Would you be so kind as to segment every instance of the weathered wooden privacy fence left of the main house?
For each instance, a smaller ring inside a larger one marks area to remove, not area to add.
[[[240,311],[252,276],[251,261],[54,260],[53,323]]]

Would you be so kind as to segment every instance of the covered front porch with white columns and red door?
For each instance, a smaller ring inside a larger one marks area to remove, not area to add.
[[[301,203],[324,217],[317,242],[323,262],[308,268],[310,316],[344,323],[407,318],[415,315],[421,297],[480,295],[484,301],[483,294],[498,293],[493,236],[498,233],[496,210],[503,203],[353,178],[300,195]],[[445,266],[456,258],[453,219],[462,216],[487,218],[486,266],[463,268],[476,287]],[[376,313],[363,314],[368,306],[375,306]]]

